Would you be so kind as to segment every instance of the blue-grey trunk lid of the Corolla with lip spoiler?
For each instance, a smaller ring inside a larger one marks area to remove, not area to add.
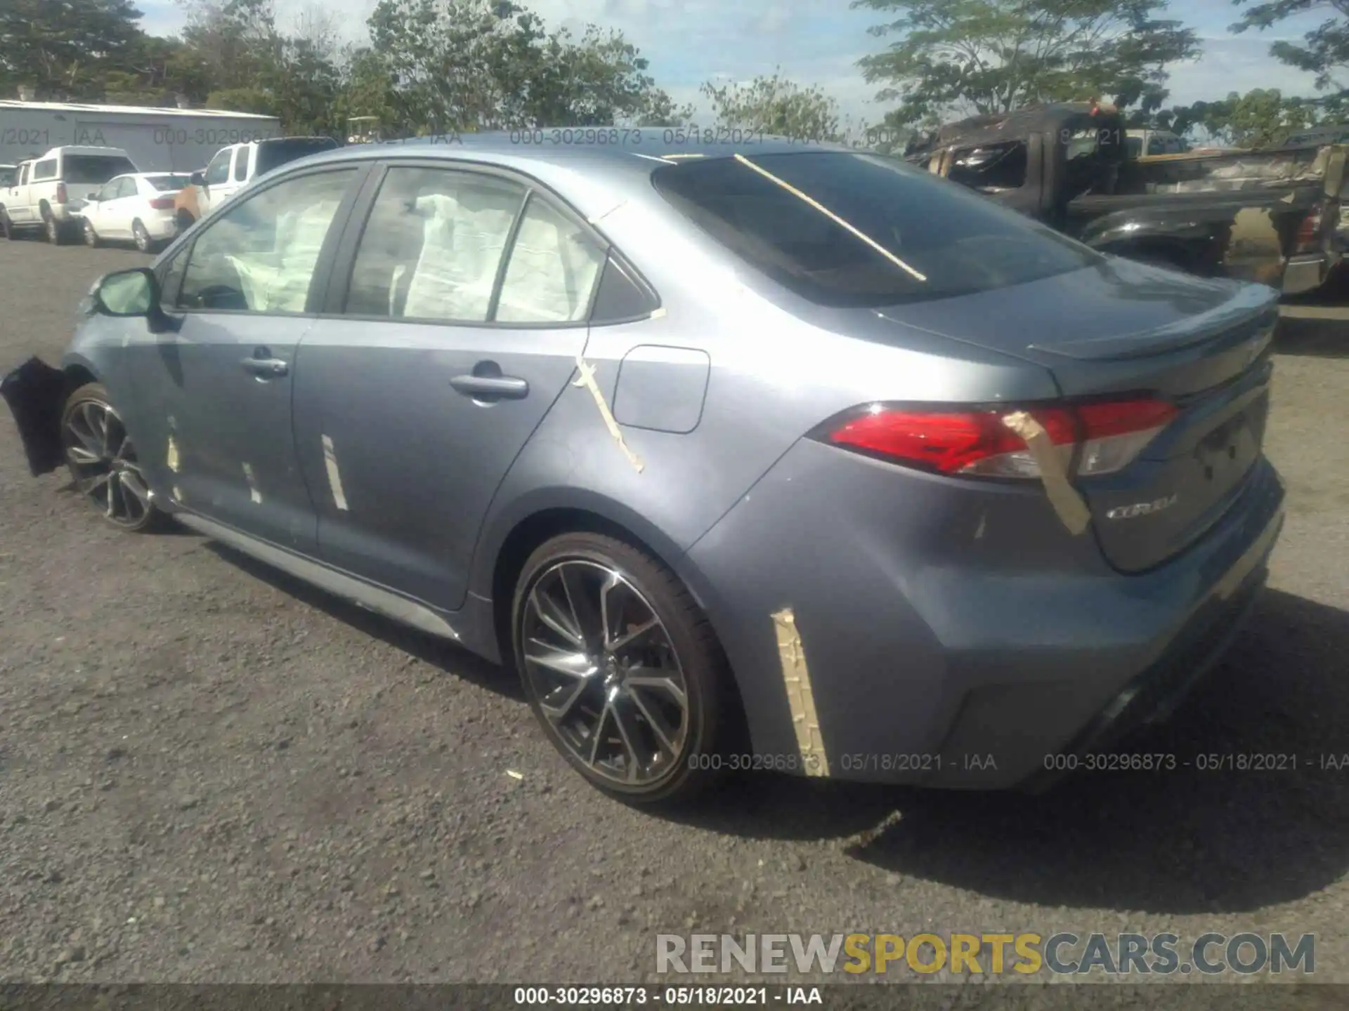
[[[1176,406],[1124,470],[1074,480],[1120,572],[1151,569],[1201,538],[1241,497],[1263,452],[1278,322],[1271,288],[1109,259],[882,314],[1035,361],[1070,399],[1153,395]]]

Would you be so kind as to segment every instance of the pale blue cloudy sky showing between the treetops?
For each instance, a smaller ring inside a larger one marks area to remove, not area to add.
[[[363,26],[376,0],[277,0],[282,22],[306,11],[332,15],[339,24]],[[614,27],[650,59],[652,75],[677,101],[697,105],[703,81],[745,81],[782,73],[803,84],[819,84],[855,120],[880,119],[874,88],[862,81],[857,59],[884,47],[867,35],[881,20],[871,11],[854,11],[847,0],[522,0],[552,24],[580,30],[592,22]],[[143,27],[155,34],[181,28],[182,9],[174,0],[142,0]],[[1228,26],[1240,8],[1230,0],[1172,0],[1168,16],[1194,27],[1203,55],[1171,67],[1171,101],[1224,97],[1230,90],[1280,88],[1286,94],[1314,94],[1313,80],[1268,55],[1276,38],[1296,38],[1323,13],[1288,20],[1276,30],[1232,35]],[[359,27],[356,28],[359,30]]]

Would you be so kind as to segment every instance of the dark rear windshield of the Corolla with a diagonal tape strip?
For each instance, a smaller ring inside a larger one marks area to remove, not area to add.
[[[1101,262],[1085,245],[893,158],[815,151],[749,162],[683,162],[652,179],[742,260],[817,305],[950,298]]]

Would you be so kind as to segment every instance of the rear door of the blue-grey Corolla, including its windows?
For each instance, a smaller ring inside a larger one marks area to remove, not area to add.
[[[299,348],[295,438],[329,565],[442,609],[584,350],[604,251],[527,181],[393,163]]]

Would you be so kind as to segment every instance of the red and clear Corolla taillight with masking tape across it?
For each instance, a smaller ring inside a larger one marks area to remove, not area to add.
[[[1122,470],[1176,417],[1166,400],[1133,399],[1025,407],[1081,476]],[[826,427],[835,446],[943,474],[1039,477],[1025,441],[1005,423],[1014,407],[942,410],[873,404]]]

